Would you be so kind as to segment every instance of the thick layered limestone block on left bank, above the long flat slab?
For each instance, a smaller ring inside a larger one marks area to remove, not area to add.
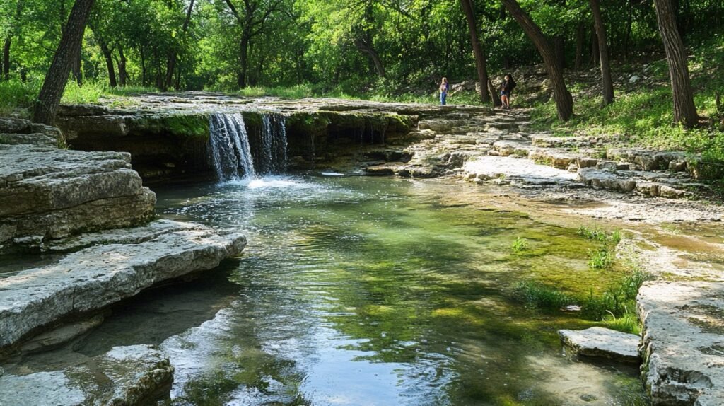
[[[128,153],[0,145],[0,251],[149,221],[156,195]]]

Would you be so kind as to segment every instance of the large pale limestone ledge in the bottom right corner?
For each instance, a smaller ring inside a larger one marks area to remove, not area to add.
[[[654,405],[724,405],[724,283],[645,282],[644,378]]]

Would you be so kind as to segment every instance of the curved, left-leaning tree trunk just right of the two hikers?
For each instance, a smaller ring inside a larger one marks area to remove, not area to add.
[[[548,77],[553,85],[553,91],[555,96],[555,106],[558,113],[558,118],[563,121],[568,121],[573,114],[573,98],[568,89],[565,88],[565,80],[563,80],[563,69],[560,69],[555,58],[555,51],[550,43],[543,35],[541,29],[536,23],[531,20],[531,17],[521,9],[520,4],[517,0],[500,0],[508,12],[515,18],[515,21],[521,25],[526,35],[533,41],[538,52],[543,58]]]

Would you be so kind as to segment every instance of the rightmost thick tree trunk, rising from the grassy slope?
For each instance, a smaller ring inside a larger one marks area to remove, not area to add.
[[[691,92],[689,65],[686,63],[686,50],[681,35],[676,28],[676,17],[670,0],[654,0],[659,31],[664,42],[666,61],[669,64],[671,90],[674,103],[674,121],[686,127],[694,127],[699,122],[694,106],[694,93]]]

